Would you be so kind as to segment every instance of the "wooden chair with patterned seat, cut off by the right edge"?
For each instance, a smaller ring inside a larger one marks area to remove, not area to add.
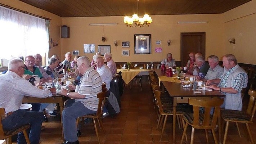
[[[253,123],[253,117],[254,117],[254,114],[255,114],[255,111],[256,111],[256,102],[255,102],[256,101],[256,91],[255,90],[249,90],[248,95],[250,95],[250,101],[249,101],[246,112],[236,111],[236,110],[229,110],[229,109],[225,109],[225,110],[221,111],[221,117],[223,118],[223,120],[226,121],[226,128],[225,128],[223,144],[226,143],[229,122],[235,122],[237,126],[238,126],[238,122],[239,123],[245,123],[248,134],[250,136],[251,143],[254,144],[252,134],[251,134],[251,130],[250,130],[250,127],[249,127],[248,123]],[[238,133],[241,137],[239,128],[238,128]]]

